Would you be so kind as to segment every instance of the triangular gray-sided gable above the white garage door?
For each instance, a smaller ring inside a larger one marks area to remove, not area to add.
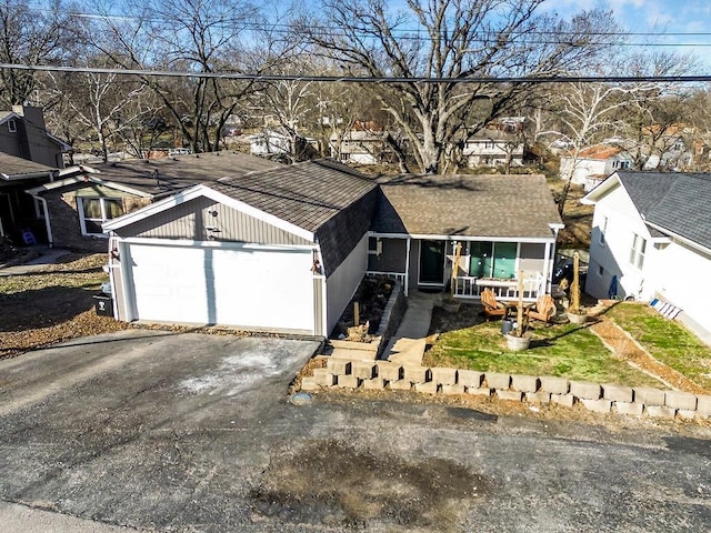
[[[213,217],[212,213],[217,213]],[[210,230],[214,228],[217,231]],[[121,228],[122,238],[189,239],[194,241],[256,242],[260,244],[311,244],[241,211],[201,197]]]

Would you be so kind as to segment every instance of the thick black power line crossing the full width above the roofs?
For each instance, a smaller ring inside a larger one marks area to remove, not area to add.
[[[705,76],[541,76],[541,77],[358,77],[358,76],[289,76],[239,72],[190,72],[180,70],[102,69],[94,67],[61,67],[49,64],[0,63],[0,69],[42,72],[76,72],[92,74],[120,74],[162,78],[203,78],[233,81],[304,81],[343,83],[700,83],[711,81]]]

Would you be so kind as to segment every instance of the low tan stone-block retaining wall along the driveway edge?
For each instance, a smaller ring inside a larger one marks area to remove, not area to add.
[[[304,378],[301,383],[301,390],[304,391],[324,386],[472,394],[569,408],[580,403],[598,413],[644,414],[667,419],[711,416],[711,395],[569,381],[564,378],[403,365],[391,361],[329,358],[326,368],[316,369],[313,376]]]

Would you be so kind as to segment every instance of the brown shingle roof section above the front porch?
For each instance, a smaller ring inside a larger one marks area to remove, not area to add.
[[[542,175],[381,178],[371,229],[380,233],[551,238],[561,224]]]

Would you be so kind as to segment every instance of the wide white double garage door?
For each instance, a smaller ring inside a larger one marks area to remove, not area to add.
[[[311,250],[129,245],[133,319],[314,331]]]

